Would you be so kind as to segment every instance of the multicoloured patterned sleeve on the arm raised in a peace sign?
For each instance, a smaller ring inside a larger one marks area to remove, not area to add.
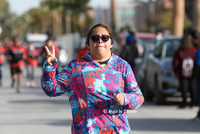
[[[56,66],[57,62],[52,65],[45,60],[43,65],[43,75],[41,78],[41,86],[44,92],[50,96],[60,96],[68,91],[68,85],[71,78],[71,68],[66,66],[57,76]]]

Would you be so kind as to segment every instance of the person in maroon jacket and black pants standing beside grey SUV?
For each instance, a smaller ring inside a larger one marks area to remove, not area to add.
[[[180,89],[182,92],[182,103],[179,106],[179,108],[185,108],[187,106],[187,91],[190,92],[190,106],[194,106],[196,103],[196,94],[194,90],[194,83],[192,81],[192,74],[190,68],[188,72],[185,71],[185,66],[183,63],[186,63],[184,61],[191,61],[188,63],[192,63],[195,58],[195,54],[197,52],[197,49],[192,44],[192,39],[190,35],[185,35],[182,40],[180,47],[175,52],[173,57],[173,70],[175,73],[176,78],[179,79]],[[190,59],[190,60],[186,60]],[[188,64],[189,65],[189,64]],[[193,65],[191,65],[192,67]],[[187,67],[187,66],[186,66]]]

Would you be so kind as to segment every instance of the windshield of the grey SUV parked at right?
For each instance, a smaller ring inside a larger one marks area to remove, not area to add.
[[[162,57],[173,57],[180,45],[179,39],[166,40],[163,42]]]

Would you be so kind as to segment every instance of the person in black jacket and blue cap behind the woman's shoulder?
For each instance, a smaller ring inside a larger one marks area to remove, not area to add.
[[[136,40],[134,39],[134,33],[129,32],[126,38],[126,45],[123,47],[120,57],[126,60],[130,65],[132,70],[134,70],[134,60],[138,57],[138,49],[136,47]]]

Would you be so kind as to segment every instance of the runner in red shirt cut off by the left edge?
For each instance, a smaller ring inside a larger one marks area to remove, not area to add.
[[[2,72],[3,72],[3,64],[5,62],[4,56],[6,53],[6,49],[2,46],[0,42],[0,86],[2,86]]]

